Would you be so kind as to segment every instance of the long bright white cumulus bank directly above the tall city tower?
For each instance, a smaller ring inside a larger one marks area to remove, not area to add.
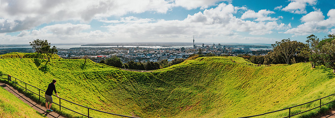
[[[243,9],[234,7],[232,4],[219,4],[216,8],[205,9],[203,12],[188,15],[180,20],[157,20],[153,22],[124,22],[125,18],[113,21],[107,26],[114,37],[123,39],[169,39],[187,38],[195,35],[197,37],[218,38],[220,36],[236,35],[238,31],[249,32],[251,35],[264,35],[272,33],[274,29],[287,29],[287,25],[278,24],[270,18],[262,22],[244,21],[236,18],[234,13]],[[261,15],[270,14],[271,11],[260,10]],[[265,19],[268,19],[264,17]],[[138,18],[133,18],[138,19]],[[260,18],[261,19],[261,18]],[[143,20],[143,19],[138,19]]]

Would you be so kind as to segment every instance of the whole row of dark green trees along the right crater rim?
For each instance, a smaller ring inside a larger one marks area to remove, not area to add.
[[[272,44],[273,51],[265,56],[238,55],[249,59],[256,64],[291,64],[299,62],[311,62],[311,67],[324,65],[333,69],[335,73],[335,34],[329,34],[323,39],[311,34],[306,43],[282,39]]]

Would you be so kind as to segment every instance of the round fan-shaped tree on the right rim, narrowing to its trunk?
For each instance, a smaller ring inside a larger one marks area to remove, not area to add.
[[[307,44],[297,41],[291,41],[288,39],[282,39],[276,41],[276,44],[272,44],[275,53],[278,53],[282,57],[286,64],[290,64],[291,59],[297,56],[301,51],[306,49]]]

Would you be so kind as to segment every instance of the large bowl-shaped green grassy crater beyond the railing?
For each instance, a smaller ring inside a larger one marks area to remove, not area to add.
[[[56,89],[62,98],[94,109],[142,118],[237,118],[335,93],[332,71],[324,67],[311,69],[310,63],[251,66],[238,57],[202,57],[142,73],[92,61],[83,63],[84,59],[52,59],[48,64],[44,59],[0,59],[0,71],[41,89],[56,79]],[[322,103],[331,99],[335,97],[323,99]],[[87,109],[66,102],[61,104],[87,114]],[[291,113],[318,104],[307,104],[292,109]],[[323,106],[321,111],[332,105]],[[71,117],[79,116],[65,109],[61,111]],[[318,112],[319,109],[298,117]],[[97,118],[114,117],[93,111],[89,114]],[[284,116],[288,116],[288,110],[263,117]]]

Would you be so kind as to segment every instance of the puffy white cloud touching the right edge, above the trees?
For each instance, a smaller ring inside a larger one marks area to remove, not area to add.
[[[329,10],[328,19],[324,20],[324,16],[319,11],[313,11],[302,17],[304,24],[297,28],[288,29],[284,33],[297,35],[309,35],[317,32],[328,32],[330,28],[335,27],[335,9]]]

